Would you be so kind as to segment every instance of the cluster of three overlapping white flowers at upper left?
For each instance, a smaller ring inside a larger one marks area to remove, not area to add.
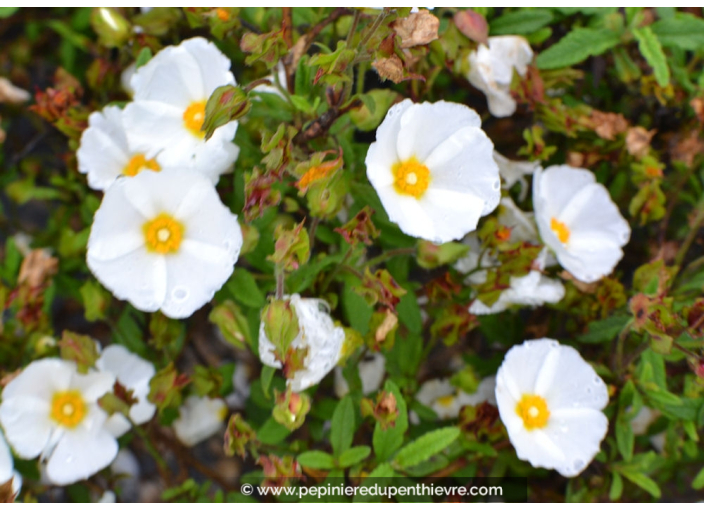
[[[232,168],[237,122],[202,131],[205,104],[234,84],[230,61],[202,38],[168,47],[130,79],[133,101],[90,116],[77,157],[105,190],[88,267],[140,310],[183,318],[230,277],[242,246],[237,217],[215,190]]]

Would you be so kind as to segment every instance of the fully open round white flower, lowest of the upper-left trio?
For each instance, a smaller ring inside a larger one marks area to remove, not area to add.
[[[241,246],[237,217],[213,184],[169,169],[110,186],[95,213],[87,262],[117,298],[184,318],[230,277]]]

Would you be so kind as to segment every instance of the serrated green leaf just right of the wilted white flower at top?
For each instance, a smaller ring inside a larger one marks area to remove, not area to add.
[[[617,32],[607,28],[575,28],[538,55],[538,69],[559,69],[601,55],[620,42]]]

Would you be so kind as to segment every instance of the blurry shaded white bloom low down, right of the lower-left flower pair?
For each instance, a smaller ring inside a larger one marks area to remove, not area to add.
[[[176,437],[186,446],[193,446],[215,434],[227,417],[227,405],[221,398],[191,395],[179,408],[174,420]]]

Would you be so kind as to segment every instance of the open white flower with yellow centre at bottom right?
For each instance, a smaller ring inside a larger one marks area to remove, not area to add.
[[[548,338],[508,351],[496,400],[518,458],[562,476],[587,467],[609,427],[604,381],[575,349]]]

